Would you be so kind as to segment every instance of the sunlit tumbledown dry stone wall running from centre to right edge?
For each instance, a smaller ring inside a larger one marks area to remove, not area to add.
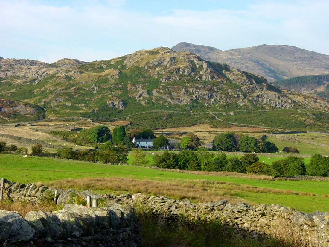
[[[307,246],[329,247],[328,212],[302,213],[279,205],[248,206],[243,202],[232,205],[226,200],[192,204],[187,199],[179,201],[141,194],[120,195],[113,201],[133,206],[142,203],[166,222],[182,218],[190,221],[220,220],[228,229],[233,228],[237,237],[261,239],[288,234],[298,237]]]

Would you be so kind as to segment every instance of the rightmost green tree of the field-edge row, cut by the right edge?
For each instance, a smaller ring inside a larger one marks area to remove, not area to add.
[[[329,157],[314,154],[306,165],[307,175],[329,177]]]

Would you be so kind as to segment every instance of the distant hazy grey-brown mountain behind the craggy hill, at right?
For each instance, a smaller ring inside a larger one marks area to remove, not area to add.
[[[180,42],[171,49],[190,51],[207,61],[264,76],[269,82],[304,75],[329,73],[329,55],[289,45],[257,45],[231,50]]]

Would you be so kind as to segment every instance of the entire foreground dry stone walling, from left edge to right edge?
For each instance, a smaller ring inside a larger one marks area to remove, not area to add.
[[[54,189],[30,183],[27,185],[5,180],[4,198],[39,203],[53,200]],[[67,204],[76,195],[103,199],[102,208]],[[58,190],[58,204],[65,204],[57,212],[30,212],[23,219],[14,212],[0,211],[0,240],[33,239],[36,246],[140,246],[139,225],[134,217],[135,207],[143,208],[165,222],[185,219],[219,221],[227,229],[234,229],[237,237],[261,239],[280,234],[297,234],[308,246],[329,247],[329,213],[296,212],[279,205],[237,205],[226,200],[192,204],[189,200],[169,199],[164,196],[146,197],[142,194],[99,195],[91,191]],[[19,222],[13,224],[13,222]],[[26,224],[27,223],[27,224]],[[16,229],[17,225],[21,226]],[[14,234],[24,229],[25,235]],[[113,242],[113,245],[111,243]],[[74,245],[73,245],[74,244]]]

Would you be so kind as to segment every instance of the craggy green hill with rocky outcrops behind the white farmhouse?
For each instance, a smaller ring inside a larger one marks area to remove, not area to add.
[[[325,128],[329,112],[329,101],[320,97],[284,90],[262,76],[167,47],[90,63],[0,59],[0,77],[0,98],[39,106],[47,119],[124,117],[135,126],[159,128],[225,125],[233,116],[241,124]],[[287,111],[273,113],[281,109]],[[218,121],[218,114],[226,121]],[[279,115],[284,121],[272,123]]]

